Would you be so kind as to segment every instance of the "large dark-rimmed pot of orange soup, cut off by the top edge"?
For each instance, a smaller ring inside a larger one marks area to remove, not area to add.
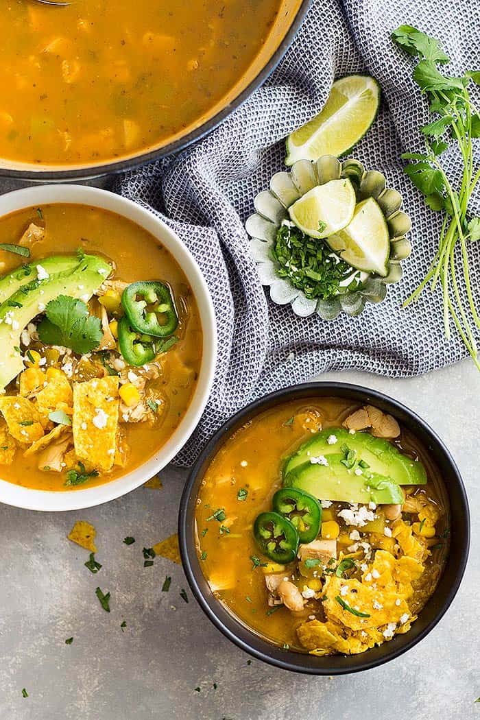
[[[188,145],[268,76],[307,6],[1,0],[1,174],[86,178]]]

